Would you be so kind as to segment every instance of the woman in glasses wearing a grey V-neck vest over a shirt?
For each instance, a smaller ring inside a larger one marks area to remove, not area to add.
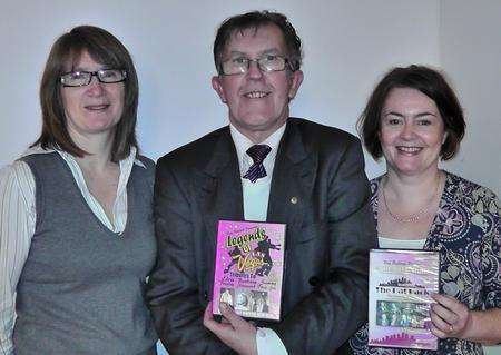
[[[130,55],[73,28],[52,46],[40,103],[40,137],[0,171],[0,353],[156,354],[143,299],[155,165],[138,155]]]

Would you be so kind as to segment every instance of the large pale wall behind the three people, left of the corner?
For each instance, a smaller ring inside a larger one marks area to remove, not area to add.
[[[160,155],[226,122],[210,88],[212,43],[226,17],[275,9],[304,41],[305,80],[292,114],[354,132],[376,79],[394,65],[438,66],[439,4],[373,1],[3,0],[0,12],[0,166],[40,129],[38,86],[53,40],[73,26],[101,26],[130,50],[140,81],[139,139]],[[382,171],[367,159],[367,171]]]

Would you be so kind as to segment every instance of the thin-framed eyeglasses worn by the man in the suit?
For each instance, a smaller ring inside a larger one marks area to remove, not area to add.
[[[257,63],[257,68],[263,72],[285,70],[288,63],[287,58],[277,55],[265,55],[256,59],[237,57],[222,62],[222,73],[225,76],[246,73],[253,61]]]

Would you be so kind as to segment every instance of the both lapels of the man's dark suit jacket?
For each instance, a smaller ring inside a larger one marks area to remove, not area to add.
[[[194,172],[194,180],[207,236],[215,248],[218,220],[244,219],[238,158],[229,127],[222,130],[207,151],[212,151],[212,157],[203,169]],[[287,243],[301,235],[303,215],[311,201],[317,165],[313,156],[303,142],[299,128],[291,120],[278,146],[266,218],[269,223],[287,225]]]

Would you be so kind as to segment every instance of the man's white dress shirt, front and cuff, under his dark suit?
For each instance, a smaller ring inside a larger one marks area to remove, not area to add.
[[[252,183],[249,179],[243,178],[243,176],[254,164],[250,156],[246,152],[248,148],[254,146],[254,142],[240,134],[233,125],[229,125],[229,131],[235,144],[238,165],[240,167],[242,189],[244,194],[244,218],[246,220],[266,220],[273,167],[275,166],[278,144],[284,135],[285,126],[286,125],[282,126],[273,135],[266,138],[266,140],[259,142],[261,145],[268,145],[272,150],[263,161],[266,176]],[[257,328],[256,344],[258,355],[287,355],[284,343],[282,343],[281,338],[273,329]]]

